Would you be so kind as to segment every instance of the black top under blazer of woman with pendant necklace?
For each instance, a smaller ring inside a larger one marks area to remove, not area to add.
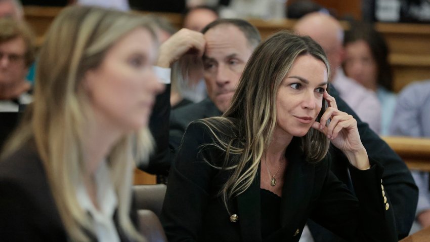
[[[261,231],[263,240],[281,228],[281,197],[275,193],[260,189],[261,196]]]

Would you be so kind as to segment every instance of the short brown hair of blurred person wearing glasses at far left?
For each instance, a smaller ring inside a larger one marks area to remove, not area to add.
[[[12,18],[0,18],[0,44],[21,37],[25,43],[24,60],[28,67],[34,62],[35,46],[34,34],[24,21]]]

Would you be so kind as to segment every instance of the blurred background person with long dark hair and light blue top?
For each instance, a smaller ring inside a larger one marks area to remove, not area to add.
[[[385,40],[372,25],[355,22],[343,40],[343,71],[363,87],[376,92],[381,107],[381,132],[388,135],[396,108],[393,73]]]

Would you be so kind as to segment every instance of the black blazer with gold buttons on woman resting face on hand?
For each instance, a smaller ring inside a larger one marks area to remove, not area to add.
[[[260,175],[229,202],[228,213],[218,192],[230,173],[204,161],[223,163],[222,151],[201,146],[213,143],[212,139],[201,123],[187,128],[170,170],[161,213],[166,235],[169,241],[262,241]],[[332,174],[328,160],[307,163],[299,143],[294,138],[286,152],[281,229],[265,241],[298,241],[309,217],[348,241],[397,241],[393,209],[385,209],[381,194],[383,168],[374,160],[370,170],[350,168],[355,197]],[[230,222],[232,214],[239,216],[238,222]]]

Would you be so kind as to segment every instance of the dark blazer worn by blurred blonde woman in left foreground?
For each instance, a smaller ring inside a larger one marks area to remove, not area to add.
[[[68,240],[33,144],[0,161],[0,194],[1,241]],[[137,219],[135,215],[132,218]],[[114,221],[119,228],[116,213]],[[131,241],[121,229],[118,235],[121,241]],[[91,234],[89,236],[97,241]]]

